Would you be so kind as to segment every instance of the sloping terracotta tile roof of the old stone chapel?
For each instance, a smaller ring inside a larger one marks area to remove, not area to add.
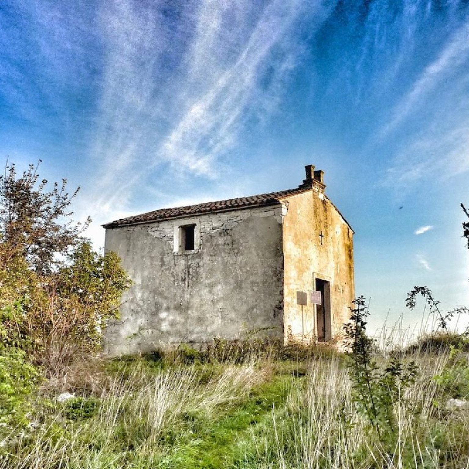
[[[268,194],[258,194],[250,197],[237,197],[235,199],[219,200],[217,202],[205,202],[203,204],[187,205],[185,207],[163,208],[152,212],[141,213],[132,217],[122,218],[103,225],[104,228],[117,228],[138,223],[150,223],[153,221],[166,220],[170,218],[187,217],[189,215],[202,215],[211,212],[225,212],[237,208],[263,207],[275,205],[283,197],[299,194],[310,187],[299,187],[297,189],[281,190]]]

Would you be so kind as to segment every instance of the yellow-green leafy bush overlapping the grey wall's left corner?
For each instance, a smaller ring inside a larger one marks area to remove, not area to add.
[[[114,252],[100,255],[89,242],[78,243],[48,276],[25,324],[40,363],[60,372],[76,355],[98,351],[106,322],[118,317],[122,292],[129,285]]]

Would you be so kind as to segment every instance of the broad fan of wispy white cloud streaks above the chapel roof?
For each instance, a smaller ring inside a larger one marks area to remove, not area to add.
[[[127,206],[162,166],[179,181],[216,178],[245,122],[265,118],[281,98],[303,51],[295,25],[308,17],[310,28],[318,26],[332,6],[102,4],[103,80],[89,149],[93,204]]]

